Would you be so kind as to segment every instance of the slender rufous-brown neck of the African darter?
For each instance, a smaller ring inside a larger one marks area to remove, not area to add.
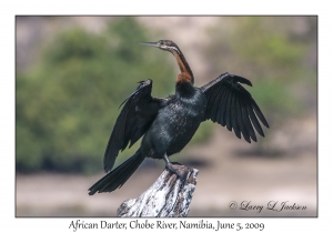
[[[179,65],[179,69],[181,73],[176,78],[176,83],[179,82],[191,82],[192,84],[194,83],[194,77],[192,73],[192,70],[183,55],[183,53],[180,51],[180,49],[172,50],[172,54],[174,55],[176,63]]]

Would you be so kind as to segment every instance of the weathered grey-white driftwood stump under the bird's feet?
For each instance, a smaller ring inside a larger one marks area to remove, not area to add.
[[[184,172],[182,181],[174,173],[164,170],[160,178],[138,199],[123,202],[118,216],[186,216],[192,193],[196,185],[199,170],[178,164]]]

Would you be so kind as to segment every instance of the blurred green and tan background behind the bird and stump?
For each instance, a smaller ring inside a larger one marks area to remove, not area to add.
[[[226,71],[251,80],[271,126],[249,144],[201,124],[171,158],[200,170],[189,216],[316,216],[316,17],[17,17],[16,39],[17,216],[115,216],[158,179],[163,161],[145,160],[120,190],[88,195],[138,82],[174,93],[173,57],[138,44],[160,39],[178,43],[196,87]],[[306,210],[229,210],[232,201]]]

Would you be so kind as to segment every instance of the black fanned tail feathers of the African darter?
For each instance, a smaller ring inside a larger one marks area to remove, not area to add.
[[[135,172],[139,165],[144,160],[144,155],[139,149],[134,155],[120,164],[117,169],[105,174],[101,180],[93,184],[89,189],[89,195],[93,195],[95,192],[112,192],[118,188],[121,188],[128,179]]]

